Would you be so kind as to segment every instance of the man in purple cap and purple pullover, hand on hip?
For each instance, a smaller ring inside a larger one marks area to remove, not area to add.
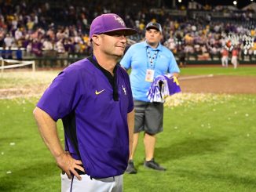
[[[61,191],[123,191],[133,144],[130,80],[118,60],[127,28],[113,13],[90,27],[93,56],[72,63],[55,78],[35,107],[40,134],[62,169]],[[65,149],[57,136],[64,125]]]

